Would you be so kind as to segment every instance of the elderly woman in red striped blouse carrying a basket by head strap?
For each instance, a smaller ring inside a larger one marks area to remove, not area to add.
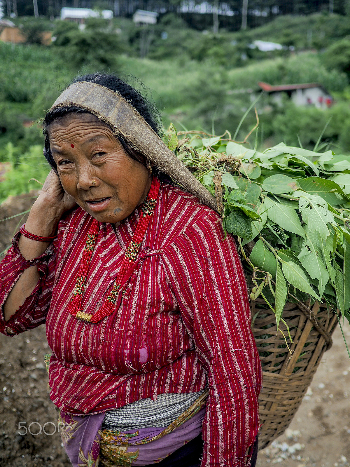
[[[73,466],[253,465],[261,368],[244,274],[213,198],[158,133],[112,75],[56,100],[52,170],[1,263],[0,330],[46,322]]]

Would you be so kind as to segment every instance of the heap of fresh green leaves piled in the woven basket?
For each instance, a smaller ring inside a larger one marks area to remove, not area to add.
[[[260,152],[224,136],[194,135],[188,146],[196,144],[197,158],[184,162],[211,193],[215,171],[227,182],[223,226],[240,237],[253,299],[271,300],[277,323],[286,300],[308,298],[350,317],[349,156],[283,143]]]

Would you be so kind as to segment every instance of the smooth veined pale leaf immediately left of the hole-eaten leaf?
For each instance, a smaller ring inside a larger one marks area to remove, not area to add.
[[[263,205],[267,210],[267,217],[275,222],[282,229],[288,232],[296,233],[302,238],[305,238],[304,230],[301,226],[298,214],[295,212],[293,207],[286,204],[281,205],[278,201],[268,198],[264,198]]]

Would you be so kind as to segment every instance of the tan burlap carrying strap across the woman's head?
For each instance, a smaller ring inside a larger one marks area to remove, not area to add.
[[[168,149],[143,117],[119,93],[95,83],[81,81],[70,85],[56,99],[51,110],[57,107],[77,106],[96,115],[116,135],[146,156],[161,171],[217,211],[215,198]]]

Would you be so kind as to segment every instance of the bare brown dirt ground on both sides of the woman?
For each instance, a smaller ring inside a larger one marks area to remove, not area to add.
[[[0,206],[0,219],[30,207],[36,193]],[[29,198],[29,199],[28,199]],[[1,247],[20,218],[0,222]],[[24,222],[24,220],[21,220]],[[350,326],[344,323],[350,347]],[[338,327],[287,431],[259,452],[257,467],[350,467],[350,359]],[[49,399],[45,326],[0,334],[0,467],[69,467]]]

